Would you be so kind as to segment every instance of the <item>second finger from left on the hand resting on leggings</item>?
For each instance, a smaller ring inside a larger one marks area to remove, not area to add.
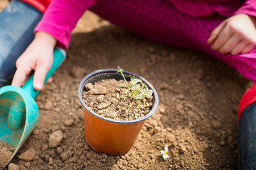
[[[220,33],[218,34],[218,37],[213,42],[213,45],[211,46],[211,48],[213,50],[219,50],[220,47],[222,47],[232,35],[233,35],[233,31],[230,30],[230,27],[225,26],[225,28],[223,28],[223,30],[221,30]]]

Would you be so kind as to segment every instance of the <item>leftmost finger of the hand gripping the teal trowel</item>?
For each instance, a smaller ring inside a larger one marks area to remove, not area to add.
[[[13,81],[11,82],[12,86],[23,86],[23,84],[25,84],[26,80],[28,79],[28,75],[31,72],[31,68],[30,67],[18,67],[15,74],[14,74],[14,78]]]

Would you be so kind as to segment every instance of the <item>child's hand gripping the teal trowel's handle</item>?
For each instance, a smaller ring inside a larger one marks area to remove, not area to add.
[[[53,48],[56,40],[48,33],[38,31],[31,45],[23,52],[16,61],[17,70],[11,83],[13,86],[23,86],[32,70],[33,88],[41,90],[46,74],[53,64]]]

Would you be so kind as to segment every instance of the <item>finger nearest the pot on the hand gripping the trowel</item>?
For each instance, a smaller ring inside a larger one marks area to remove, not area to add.
[[[36,90],[43,89],[43,82],[45,81],[46,74],[50,67],[48,67],[44,62],[38,62],[33,77],[33,88]]]

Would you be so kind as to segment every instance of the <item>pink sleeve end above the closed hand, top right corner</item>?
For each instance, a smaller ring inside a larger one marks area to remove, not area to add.
[[[247,0],[234,14],[245,13],[256,17],[256,0]]]

